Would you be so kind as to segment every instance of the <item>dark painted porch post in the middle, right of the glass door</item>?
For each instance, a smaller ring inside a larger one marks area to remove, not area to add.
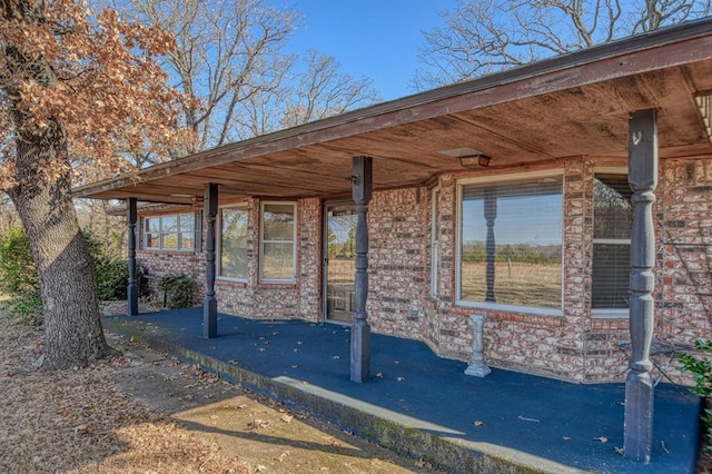
[[[356,204],[356,318],[352,325],[352,382],[370,378],[370,326],[366,318],[368,297],[368,203],[373,191],[373,158],[354,157],[353,196]]]

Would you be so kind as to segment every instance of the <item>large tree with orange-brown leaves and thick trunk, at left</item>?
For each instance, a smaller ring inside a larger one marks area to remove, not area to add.
[[[127,171],[128,152],[167,155],[189,101],[154,58],[175,45],[73,0],[0,0],[0,189],[30,240],[44,313],[47,369],[111,353],[71,186]]]

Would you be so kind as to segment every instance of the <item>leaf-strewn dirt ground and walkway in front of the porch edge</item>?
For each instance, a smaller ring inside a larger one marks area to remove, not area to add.
[[[433,472],[115,335],[123,356],[38,369],[42,333],[0,314],[0,473]]]

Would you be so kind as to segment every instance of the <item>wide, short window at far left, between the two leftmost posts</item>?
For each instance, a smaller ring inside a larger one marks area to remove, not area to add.
[[[145,248],[152,250],[194,250],[196,248],[196,215],[178,214],[147,217]]]

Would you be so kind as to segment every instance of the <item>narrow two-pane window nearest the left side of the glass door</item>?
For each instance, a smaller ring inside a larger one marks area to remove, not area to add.
[[[263,203],[260,231],[261,282],[294,282],[296,213],[294,203]]]

